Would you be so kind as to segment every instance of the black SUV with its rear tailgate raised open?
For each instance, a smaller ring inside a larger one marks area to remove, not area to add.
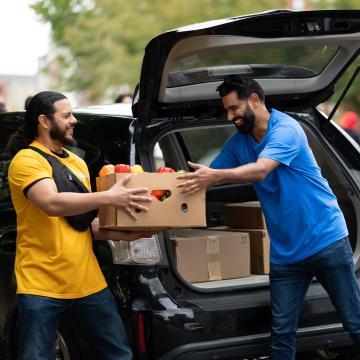
[[[223,116],[216,87],[225,75],[248,74],[263,86],[268,108],[288,113],[305,130],[344,212],[359,276],[360,148],[331,120],[359,81],[359,47],[360,11],[272,11],[166,32],[145,49],[132,113],[116,105],[75,110],[78,146],[73,150],[87,162],[94,187],[105,163],[138,163],[146,171],[163,165],[186,169],[187,160],[209,164],[236,131]],[[331,96],[341,78],[349,79],[348,86],[334,103]],[[321,108],[329,99],[327,116]],[[0,115],[1,359],[11,358],[16,320],[16,217],[4,147],[23,116]],[[208,228],[223,225],[225,204],[253,200],[251,184],[212,187],[206,194]],[[266,355],[271,323],[267,275],[190,283],[177,269],[168,232],[131,243],[95,242],[94,250],[135,359]],[[299,352],[332,357],[350,343],[326,292],[313,281],[299,322]],[[56,347],[57,359],[92,359],[90,345],[66,316]]]

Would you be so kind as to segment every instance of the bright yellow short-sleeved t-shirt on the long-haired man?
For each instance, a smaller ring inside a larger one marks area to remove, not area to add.
[[[54,155],[38,141],[30,145]],[[58,160],[90,190],[85,162],[67,153],[69,157]],[[17,293],[59,299],[94,294],[107,284],[92,250],[90,231],[77,231],[63,217],[47,215],[24,195],[29,185],[43,178],[52,178],[52,168],[34,150],[20,150],[10,163],[9,185],[17,214]]]

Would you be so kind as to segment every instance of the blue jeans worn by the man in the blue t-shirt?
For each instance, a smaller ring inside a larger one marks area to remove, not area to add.
[[[314,276],[329,294],[360,354],[360,291],[355,278],[352,250],[346,237],[297,263],[270,264],[270,359],[295,359],[298,319]]]

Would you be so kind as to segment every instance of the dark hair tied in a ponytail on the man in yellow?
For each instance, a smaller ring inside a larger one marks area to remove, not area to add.
[[[54,103],[63,99],[66,99],[66,96],[55,91],[42,91],[31,98],[26,105],[24,125],[10,136],[6,145],[11,156],[34,141],[38,136],[39,116],[45,115],[52,120]]]

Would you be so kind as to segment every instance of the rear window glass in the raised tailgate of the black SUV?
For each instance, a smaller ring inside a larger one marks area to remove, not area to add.
[[[230,74],[261,78],[309,78],[319,74],[337,52],[336,45],[277,45],[199,52],[170,67],[167,87],[220,81]]]

